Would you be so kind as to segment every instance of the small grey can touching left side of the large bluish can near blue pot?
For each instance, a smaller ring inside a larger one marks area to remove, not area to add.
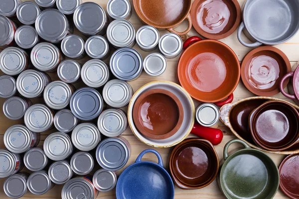
[[[77,152],[71,158],[71,168],[77,175],[87,175],[92,171],[93,167],[93,157],[87,152]]]

